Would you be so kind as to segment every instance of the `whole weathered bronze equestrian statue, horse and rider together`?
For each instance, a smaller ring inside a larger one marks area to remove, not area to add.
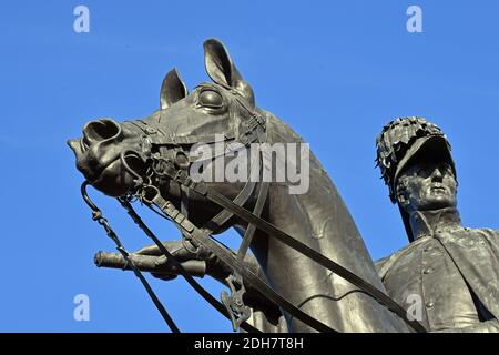
[[[438,257],[429,255],[424,264],[413,265],[416,262],[406,257],[406,252],[397,252],[378,263],[380,278],[339,193],[313,153],[309,158],[309,189],[302,194],[289,194],[288,185],[277,182],[194,182],[189,175],[193,163],[189,150],[200,142],[214,145],[215,134],[223,134],[226,144],[243,143],[243,150],[249,150],[248,143],[253,142],[302,142],[283,121],[256,106],[251,85],[242,78],[221,42],[207,40],[204,49],[206,71],[213,82],[202,83],[189,93],[176,70],[172,70],[161,88],[160,110],[136,121],[119,123],[101,119],[89,122],[83,128],[83,136],[69,142],[77,156],[77,168],[94,187],[110,196],[119,196],[122,203],[134,195],[146,205],[156,207],[182,231],[182,242],[164,242],[134,253],[131,261],[135,261],[135,266],[156,277],[171,280],[183,265],[193,275],[206,274],[228,285],[231,294],[225,294],[222,302],[235,328],[249,315],[246,305],[252,307],[248,322],[265,332],[422,331],[417,321],[421,321],[427,329],[439,331],[492,322],[489,321],[492,315],[499,314],[495,308],[499,294],[496,282],[498,267],[491,264],[498,250],[497,244],[491,247],[489,241],[495,232],[457,229],[455,168],[450,151],[441,144],[446,143],[442,134],[432,125],[422,124],[422,130],[416,130],[418,140],[401,140],[400,143],[398,131],[406,121],[400,125],[393,124],[395,129],[385,129],[381,136],[385,140],[378,145],[378,163],[384,178],[394,201],[400,206],[409,240],[416,240],[407,250],[419,251],[417,245],[422,244],[418,242],[424,240],[420,235],[428,233],[416,222],[418,217],[430,231],[442,230],[441,239],[431,241],[454,240],[441,242],[444,248],[439,251],[450,255],[438,260],[444,271],[426,273],[434,278],[429,276],[428,282],[424,278],[419,284],[419,270],[421,273],[429,271]],[[421,123],[415,120],[411,122]],[[417,124],[407,126],[414,129]],[[431,139],[422,142],[420,133],[426,130]],[[411,138],[413,133],[407,132],[404,136]],[[435,144],[430,144],[434,141]],[[397,149],[394,150],[395,146]],[[422,156],[422,151],[431,151],[434,156],[441,155],[441,159],[430,160],[430,166],[425,162],[428,171],[425,183],[419,175],[420,160],[414,158]],[[407,153],[408,158],[404,161],[404,156],[397,156],[398,160],[393,161],[390,154],[394,152]],[[249,156],[253,156],[251,152]],[[255,156],[249,163],[263,159],[259,153]],[[234,154],[224,156],[226,163],[233,159]],[[448,163],[444,168],[442,161]],[[253,172],[252,169],[249,171]],[[435,179],[434,175],[440,176],[438,186],[428,182]],[[397,194],[399,181],[414,182],[408,183],[405,190],[406,200],[403,194]],[[428,189],[425,200],[422,192]],[[430,213],[426,215],[418,210],[425,201],[429,204],[425,207],[428,211],[445,210],[446,213],[436,213],[436,219]],[[230,227],[243,236],[243,245],[235,253],[210,237]],[[450,233],[455,230],[460,234]],[[464,236],[465,232],[470,234],[469,239]],[[459,243],[465,242],[471,243],[472,247],[462,251]],[[246,253],[247,247],[253,254]],[[421,247],[426,250],[430,245]],[[466,268],[455,260],[460,257],[465,260],[462,265],[471,265],[471,261],[466,262],[473,254],[471,250],[488,258],[482,261],[483,267],[479,271]],[[174,255],[173,264],[163,255],[165,252]],[[325,261],[320,262],[318,256],[323,255]],[[96,261],[101,266],[129,266],[126,260],[113,254],[98,254]],[[353,274],[344,273],[346,276],[339,277],[342,266]],[[391,311],[386,307],[389,302],[385,300],[385,285],[398,304],[407,306],[407,287],[414,292],[421,287],[432,291],[439,286],[436,280],[440,277],[466,280],[472,292],[467,291],[464,282],[450,285],[459,287],[458,293],[448,286],[428,297],[430,293],[425,291],[422,297],[427,308],[432,308],[431,303],[438,303],[435,307],[438,314],[425,312],[421,320],[416,318],[413,323],[399,306],[403,313],[397,313],[398,316],[391,312],[396,307],[391,306]],[[481,308],[471,306],[477,304],[477,300],[481,302]],[[447,302],[462,303],[467,307],[449,308],[446,307]],[[316,323],[308,322],[307,317]],[[487,326],[487,329],[492,329],[492,326]]]

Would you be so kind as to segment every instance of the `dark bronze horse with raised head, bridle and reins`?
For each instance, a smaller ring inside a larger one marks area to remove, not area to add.
[[[190,175],[196,163],[190,150],[196,143],[216,145],[216,135],[223,134],[224,146],[240,143],[243,150],[255,142],[302,142],[283,121],[256,106],[251,85],[220,41],[207,40],[204,49],[213,82],[189,93],[172,70],[162,84],[160,110],[136,121],[89,122],[83,136],[69,142],[88,183],[118,196],[155,242],[129,254],[86,195],[85,183],[82,192],[94,220],[124,258],[118,256],[116,263],[131,266],[139,276],[138,265],[142,265],[169,280],[167,266],[156,264],[172,262],[198,292],[186,263],[202,263],[189,264],[195,274],[204,263],[206,274],[230,286],[231,294],[223,295],[223,306],[203,296],[232,320],[234,328],[252,329],[246,322],[252,306],[253,325],[262,331],[424,332],[386,295],[347,207],[314,154],[309,154],[309,189],[302,194],[289,194],[288,182],[197,182]],[[263,155],[257,152],[251,165],[262,162]],[[233,159],[234,154],[224,155],[225,163]],[[256,170],[257,175],[262,173]],[[175,223],[182,241],[157,242],[131,207],[132,197]],[[243,236],[236,252],[211,237],[228,227]],[[253,254],[246,253],[248,247]],[[151,263],[147,257],[136,260],[138,254],[163,256]],[[103,265],[104,256],[100,254],[96,262]],[[165,310],[151,297],[166,320]]]

